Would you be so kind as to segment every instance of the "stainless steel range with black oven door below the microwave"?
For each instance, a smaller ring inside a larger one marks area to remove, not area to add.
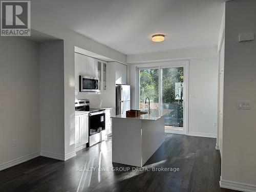
[[[105,109],[90,108],[89,100],[78,100],[76,111],[89,111],[89,146],[106,139]]]

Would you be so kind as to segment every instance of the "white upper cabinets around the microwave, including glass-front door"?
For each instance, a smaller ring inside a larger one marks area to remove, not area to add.
[[[99,90],[107,90],[107,64],[105,61],[95,59],[75,52],[75,92],[79,92],[79,75],[98,77]]]

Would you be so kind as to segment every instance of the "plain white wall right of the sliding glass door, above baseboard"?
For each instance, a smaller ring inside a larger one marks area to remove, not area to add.
[[[218,57],[189,60],[188,134],[216,137]]]

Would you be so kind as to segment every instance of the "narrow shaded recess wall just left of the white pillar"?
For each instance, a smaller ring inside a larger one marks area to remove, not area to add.
[[[39,62],[41,151],[43,156],[61,159],[65,155],[63,41],[40,43]]]

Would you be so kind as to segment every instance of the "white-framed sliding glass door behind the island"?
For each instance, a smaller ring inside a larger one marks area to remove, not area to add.
[[[162,110],[166,133],[185,134],[186,65],[139,68],[139,109]]]

